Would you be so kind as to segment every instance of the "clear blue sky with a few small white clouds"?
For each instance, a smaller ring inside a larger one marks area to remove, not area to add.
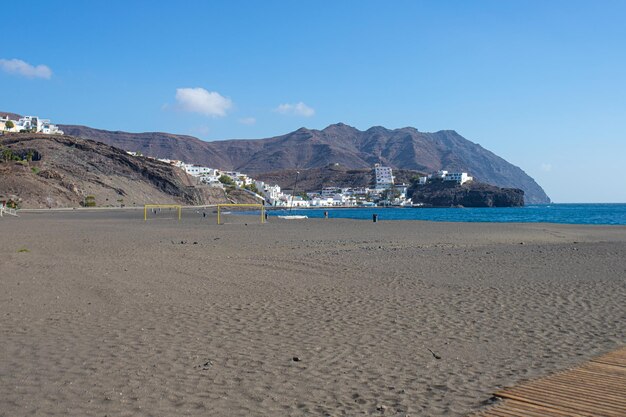
[[[626,202],[625,1],[31,1],[0,110],[204,140],[453,129],[555,202]]]

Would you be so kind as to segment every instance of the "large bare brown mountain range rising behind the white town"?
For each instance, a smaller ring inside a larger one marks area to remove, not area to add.
[[[480,182],[524,190],[526,203],[550,201],[522,169],[453,130],[425,133],[411,127],[390,130],[376,126],[360,131],[338,123],[323,130],[301,128],[267,139],[204,142],[169,133],[128,133],[77,125],[60,127],[66,134],[144,155],[249,175],[323,168],[333,163],[349,169],[371,169],[375,163],[381,163],[423,173],[439,169],[467,171]]]

